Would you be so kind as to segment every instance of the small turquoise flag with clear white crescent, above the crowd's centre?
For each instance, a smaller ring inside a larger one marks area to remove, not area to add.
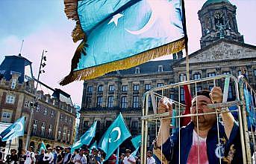
[[[131,137],[130,131],[125,125],[122,114],[119,114],[99,141],[98,147],[106,153],[104,160],[107,160],[128,137]]]

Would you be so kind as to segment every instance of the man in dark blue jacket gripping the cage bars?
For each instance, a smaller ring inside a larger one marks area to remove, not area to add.
[[[163,159],[163,163],[169,161],[173,164],[199,162],[215,164],[219,163],[219,158],[222,163],[224,161],[243,163],[237,121],[230,112],[227,112],[220,114],[222,122],[217,122],[216,114],[214,114],[216,109],[207,106],[220,102],[222,102],[222,89],[219,87],[213,87],[211,92],[207,90],[197,92],[193,97],[190,113],[197,114],[198,112],[204,115],[191,117],[191,122],[187,126],[178,128],[171,136],[169,134],[171,119],[162,119],[157,139],[154,142],[154,154],[158,159]],[[167,111],[172,114],[172,104],[166,97],[163,97],[158,103],[157,113]],[[211,112],[213,114],[207,114]],[[161,157],[161,149],[163,157]]]

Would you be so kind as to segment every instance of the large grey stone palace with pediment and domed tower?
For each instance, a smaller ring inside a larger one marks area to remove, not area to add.
[[[221,13],[218,19],[214,18]],[[199,10],[202,23],[202,49],[190,54],[190,79],[201,79],[220,74],[239,76],[240,68],[256,88],[256,47],[243,42],[237,30],[236,7],[228,0],[208,0]],[[205,16],[211,22],[205,24]],[[222,20],[222,21],[220,21]],[[215,22],[216,21],[216,22]],[[218,24],[216,24],[218,22]],[[219,25],[225,25],[224,31]],[[227,25],[228,24],[228,25]],[[218,25],[218,26],[217,26]],[[205,32],[206,30],[207,33]],[[220,35],[222,33],[222,35]],[[149,89],[183,81],[186,76],[186,59],[182,52],[173,54],[173,59],[150,61],[128,70],[117,70],[96,79],[84,81],[81,105],[81,123],[78,137],[98,120],[96,140],[111,122],[122,112],[132,136],[140,134],[140,117],[143,94]],[[182,77],[182,78],[181,78]],[[213,85],[199,85],[197,90],[209,89]],[[195,90],[191,91],[195,94]],[[167,91],[166,96],[178,99],[178,91]],[[181,102],[184,91],[181,88]],[[234,86],[230,86],[228,99],[234,99]],[[152,112],[152,111],[151,111]],[[156,136],[155,125],[149,125],[149,142]],[[149,144],[148,144],[149,145]],[[126,148],[132,148],[128,143]]]

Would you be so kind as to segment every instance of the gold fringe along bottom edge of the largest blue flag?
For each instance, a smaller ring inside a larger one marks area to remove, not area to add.
[[[78,46],[78,49],[75,51],[75,56],[72,59],[72,70],[77,68],[79,59],[81,58],[81,52],[85,54],[84,49],[85,42],[81,42]],[[97,65],[92,68],[85,68],[83,70],[75,70],[69,73],[64,79],[61,80],[60,85],[67,85],[70,82],[75,80],[86,80],[93,79],[98,76],[102,76],[105,73],[109,73],[114,70],[124,70],[128,68],[132,68],[136,65],[143,64],[144,62],[148,62],[151,59],[155,59],[160,56],[170,55],[171,53],[178,53],[178,51],[184,49],[185,47],[185,39],[179,39],[178,41],[171,42],[169,44],[163,45],[161,47],[156,47],[152,50],[147,50],[143,53],[139,53],[135,56],[131,56],[126,59],[120,59],[118,61],[109,62],[103,65]]]

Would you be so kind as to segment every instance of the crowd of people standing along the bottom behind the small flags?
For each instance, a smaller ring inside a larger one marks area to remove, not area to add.
[[[71,148],[47,148],[41,149],[40,152],[34,151],[31,146],[28,151],[22,149],[17,154],[15,149],[10,150],[10,154],[4,153],[4,148],[0,151],[0,164],[116,164],[116,154],[112,154],[107,160],[104,160],[104,151],[100,151],[97,148],[92,150],[88,148],[75,149],[71,153]],[[152,151],[147,152],[147,164],[154,164],[155,160],[152,157]],[[126,149],[125,154],[120,154],[119,164],[140,164],[140,155],[137,157],[131,156],[131,150]]]

